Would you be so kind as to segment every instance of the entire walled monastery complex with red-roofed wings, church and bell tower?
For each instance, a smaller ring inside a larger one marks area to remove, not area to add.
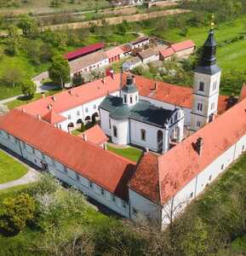
[[[1,116],[0,143],[124,218],[164,227],[246,147],[245,85],[235,102],[219,95],[220,75],[211,30],[193,89],[111,73]],[[140,160],[106,150],[108,140],[142,148]]]

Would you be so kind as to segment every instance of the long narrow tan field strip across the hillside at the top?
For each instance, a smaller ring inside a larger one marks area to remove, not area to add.
[[[178,15],[178,14],[184,14],[186,12],[189,12],[188,10],[184,9],[169,9],[169,10],[161,10],[157,12],[152,12],[148,14],[139,14],[139,15],[123,15],[119,17],[110,17],[106,18],[106,22],[108,25],[115,25],[120,24],[123,22],[123,20],[127,20],[129,22],[136,22],[140,20],[150,20],[161,16],[167,16],[167,15]],[[78,28],[87,28],[91,26],[91,24],[94,24],[96,26],[102,25],[102,20],[90,20],[90,21],[82,21],[82,22],[74,22],[74,23],[66,23],[66,24],[60,24],[60,25],[53,25],[53,26],[44,26],[43,31],[45,30],[61,30],[64,28],[68,29],[78,29]]]

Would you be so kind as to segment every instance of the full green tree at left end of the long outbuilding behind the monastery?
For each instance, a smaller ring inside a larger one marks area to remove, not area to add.
[[[62,55],[54,55],[48,72],[49,79],[55,84],[60,84],[62,88],[65,83],[69,83],[71,80],[68,61]]]

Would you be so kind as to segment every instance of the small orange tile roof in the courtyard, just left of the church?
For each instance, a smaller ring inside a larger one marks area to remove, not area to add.
[[[86,135],[88,142],[94,143],[97,146],[100,146],[108,141],[108,137],[106,137],[106,134],[100,129],[99,125],[94,125],[89,130],[84,131],[81,135],[79,135],[79,137],[83,137],[84,135]]]

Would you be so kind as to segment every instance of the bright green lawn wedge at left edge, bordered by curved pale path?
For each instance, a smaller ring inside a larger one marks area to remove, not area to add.
[[[27,172],[26,166],[21,165],[8,154],[0,151],[0,183],[8,183],[24,176]]]

